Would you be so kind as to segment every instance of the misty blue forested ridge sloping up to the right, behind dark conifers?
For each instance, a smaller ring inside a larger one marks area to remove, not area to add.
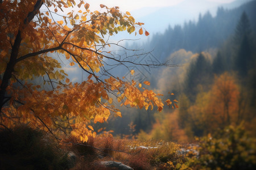
[[[198,16],[197,22],[190,20],[183,26],[169,26],[164,33],[151,36],[151,40],[144,42],[142,48],[146,51],[154,49],[152,53],[162,62],[179,49],[200,52],[209,48],[218,48],[234,33],[243,11],[248,15],[251,29],[256,32],[256,1],[250,1],[231,10],[218,7],[214,17],[210,12],[206,12]],[[129,48],[136,49],[138,44],[131,45]]]

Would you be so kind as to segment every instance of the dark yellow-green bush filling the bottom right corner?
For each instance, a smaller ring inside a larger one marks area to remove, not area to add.
[[[256,169],[256,139],[243,125],[229,126],[201,138],[199,158],[187,158],[177,169]]]

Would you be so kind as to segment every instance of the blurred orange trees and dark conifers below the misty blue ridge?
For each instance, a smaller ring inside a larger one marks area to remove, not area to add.
[[[166,109],[152,130],[148,134],[142,131],[139,138],[185,141],[241,123],[255,137],[255,40],[250,20],[243,12],[234,35],[213,56],[185,50],[171,55],[170,58],[176,55],[187,62],[187,67],[172,73],[179,78],[171,79],[172,82],[159,80],[158,84],[170,85],[163,92],[176,91],[180,108]],[[170,68],[162,70],[164,79],[168,79],[167,70]]]

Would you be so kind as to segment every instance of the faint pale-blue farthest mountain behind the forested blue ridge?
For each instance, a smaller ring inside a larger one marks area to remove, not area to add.
[[[217,8],[222,6],[225,9],[232,9],[241,6],[243,3],[249,2],[250,0],[237,0],[232,3],[226,3],[220,5],[217,2],[210,2],[205,0],[186,0],[181,2],[179,5],[171,7],[157,8],[142,8],[137,11],[133,11],[135,16],[138,13],[148,13],[153,10],[150,14],[144,15],[137,20],[145,23],[144,27],[151,33],[163,32],[168,25],[174,26],[176,24],[183,24],[184,21],[192,20],[197,21],[198,15],[204,14],[209,11],[213,16],[216,15]],[[209,6],[211,6],[209,8]]]

